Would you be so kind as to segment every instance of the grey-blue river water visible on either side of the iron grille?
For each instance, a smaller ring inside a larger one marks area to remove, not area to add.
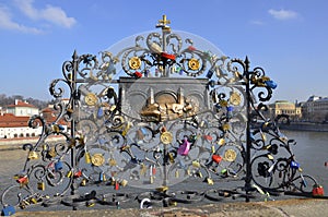
[[[303,168],[303,173],[314,177],[326,190],[325,195],[328,195],[328,167],[325,166],[328,161],[328,133],[308,131],[283,131],[283,133],[297,142],[292,149],[296,161]],[[26,156],[27,153],[23,149],[0,150],[0,194],[14,183],[13,176],[24,168]]]

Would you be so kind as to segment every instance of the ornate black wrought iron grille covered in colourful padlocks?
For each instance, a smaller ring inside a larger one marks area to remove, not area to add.
[[[34,203],[75,208],[132,198],[143,207],[151,200],[165,206],[231,195],[249,201],[254,190],[312,193],[316,181],[302,174],[291,149],[295,141],[263,116],[277,84],[262,68],[249,70],[247,58],[230,59],[168,24],[163,16],[160,33],[133,36],[99,57],[74,52],[63,63],[63,79],[49,88],[57,119],[31,118],[30,126],[43,133],[24,145],[25,167],[2,194],[3,212]],[[54,135],[62,140],[52,143]],[[168,191],[188,179],[211,189]],[[231,179],[244,180],[244,188],[220,190],[220,181]],[[154,192],[131,196],[121,193],[125,186]]]

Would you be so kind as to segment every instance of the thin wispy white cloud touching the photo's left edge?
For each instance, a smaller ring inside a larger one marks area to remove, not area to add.
[[[23,33],[42,34],[43,31],[35,27],[21,25],[12,20],[12,15],[8,8],[0,5],[0,28],[13,29]]]

